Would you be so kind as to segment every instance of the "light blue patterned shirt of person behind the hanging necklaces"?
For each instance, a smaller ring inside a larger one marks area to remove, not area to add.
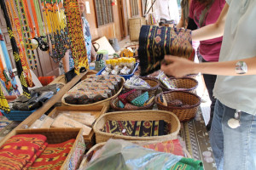
[[[90,26],[89,26],[89,22],[84,17],[82,17],[82,21],[83,21],[84,42],[85,42],[86,51],[87,51],[88,63],[90,65],[90,60],[91,60],[91,56],[90,56],[90,49],[91,49]],[[59,67],[60,67],[60,75],[65,74],[62,61],[59,62]],[[73,62],[73,56],[72,56],[71,50],[69,52],[69,68],[70,68],[70,70],[74,68],[74,62]]]

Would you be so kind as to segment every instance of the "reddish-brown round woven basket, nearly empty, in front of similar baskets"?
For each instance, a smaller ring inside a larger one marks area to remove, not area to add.
[[[179,99],[181,100],[184,104],[187,104],[189,106],[185,107],[175,107],[175,106],[165,106],[161,105],[157,99],[160,95],[164,95],[166,98],[167,103],[172,101],[173,99]],[[183,92],[183,91],[168,91],[158,94],[154,102],[157,104],[157,107],[159,110],[162,111],[172,111],[179,121],[189,121],[190,119],[194,118],[197,112],[197,109],[199,105],[201,104],[201,99],[199,96],[196,94],[192,94],[189,92]]]

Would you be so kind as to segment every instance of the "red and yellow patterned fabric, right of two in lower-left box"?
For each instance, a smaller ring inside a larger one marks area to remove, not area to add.
[[[61,144],[48,144],[44,152],[38,157],[29,169],[54,170],[60,169],[73,147],[75,139],[67,140]]]

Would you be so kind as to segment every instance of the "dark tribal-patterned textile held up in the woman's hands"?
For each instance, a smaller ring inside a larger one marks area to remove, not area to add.
[[[166,54],[194,60],[191,31],[176,27],[142,26],[138,48],[141,76],[160,70],[160,62]]]

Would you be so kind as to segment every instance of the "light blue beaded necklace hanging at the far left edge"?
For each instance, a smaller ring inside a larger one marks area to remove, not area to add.
[[[10,77],[10,81],[12,83],[12,86],[14,88],[14,92],[15,92],[15,94],[19,95],[20,92],[18,90],[18,85],[17,85],[17,82],[15,80],[15,73],[13,72],[13,67],[12,67],[10,59],[9,59],[9,54],[8,54],[8,50],[6,48],[6,44],[3,41],[3,33],[2,33],[1,29],[0,29],[0,44],[1,44],[1,48],[3,50],[3,57],[4,57],[4,60],[5,60],[7,70],[9,72],[9,77]]]

